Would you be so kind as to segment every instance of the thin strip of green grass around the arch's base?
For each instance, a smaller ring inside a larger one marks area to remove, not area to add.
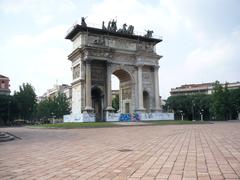
[[[159,121],[140,121],[140,122],[145,122],[146,124],[139,124],[141,126],[144,125],[177,125],[177,124],[203,124],[206,122],[200,122],[200,121],[180,121],[180,120],[174,120],[174,121],[164,121],[164,120],[159,120]],[[137,126],[134,124],[133,126]],[[121,123],[114,123],[114,122],[84,122],[84,123],[79,123],[79,122],[73,122],[73,123],[60,123],[60,124],[41,124],[41,125],[33,125],[30,127],[33,128],[97,128],[97,127],[120,127],[120,126],[132,126],[130,123],[129,125],[127,122],[124,122],[124,125]]]

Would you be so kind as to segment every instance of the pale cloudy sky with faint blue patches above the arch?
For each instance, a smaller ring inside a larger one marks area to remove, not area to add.
[[[160,95],[189,83],[240,81],[239,0],[0,0],[0,74],[11,91],[31,83],[37,95],[71,83],[67,30],[82,16],[89,26],[117,18],[118,27],[154,31]]]

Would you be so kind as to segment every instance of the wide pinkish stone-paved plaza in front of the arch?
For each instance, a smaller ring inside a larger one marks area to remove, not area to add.
[[[0,128],[0,179],[240,179],[240,122]]]

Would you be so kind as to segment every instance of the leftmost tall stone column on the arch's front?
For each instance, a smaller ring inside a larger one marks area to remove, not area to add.
[[[86,83],[85,83],[85,111],[93,111],[92,108],[92,95],[91,95],[91,61],[89,59],[86,60]]]

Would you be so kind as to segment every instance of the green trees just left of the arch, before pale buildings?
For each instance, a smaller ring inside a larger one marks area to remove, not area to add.
[[[63,93],[58,93],[56,97],[42,100],[37,106],[37,116],[40,119],[51,117],[62,118],[70,113],[70,105],[67,97]]]

